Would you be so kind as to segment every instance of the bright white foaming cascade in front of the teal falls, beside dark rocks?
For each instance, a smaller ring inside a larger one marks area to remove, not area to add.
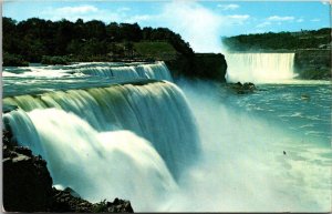
[[[157,151],[133,132],[97,132],[77,115],[56,109],[13,111],[6,120],[20,144],[46,160],[53,183],[71,186],[83,198],[129,198],[136,208],[146,210],[177,188]]]

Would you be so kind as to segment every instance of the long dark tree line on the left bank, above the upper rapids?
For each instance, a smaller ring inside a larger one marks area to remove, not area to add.
[[[131,57],[134,42],[166,41],[186,57],[194,54],[188,42],[167,28],[141,28],[137,23],[50,21],[2,18],[3,65],[20,65],[52,59],[98,61]]]

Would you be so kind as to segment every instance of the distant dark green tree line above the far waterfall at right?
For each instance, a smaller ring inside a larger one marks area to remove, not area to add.
[[[331,28],[300,32],[240,34],[222,38],[222,43],[231,51],[323,49],[331,43]]]

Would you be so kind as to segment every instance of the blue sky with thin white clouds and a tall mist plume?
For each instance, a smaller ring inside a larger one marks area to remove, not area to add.
[[[196,52],[219,52],[221,37],[331,27],[328,0],[4,0],[2,16],[17,21],[32,17],[52,21],[81,18],[164,27],[179,33]]]

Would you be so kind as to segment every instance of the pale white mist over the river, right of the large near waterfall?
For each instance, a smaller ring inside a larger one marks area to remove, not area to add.
[[[297,136],[277,124],[222,104],[220,91],[211,82],[183,80],[178,85],[197,121],[203,160],[181,176],[179,191],[162,205],[162,211],[329,210],[329,198],[322,200],[322,192],[307,183],[312,182],[310,177],[318,169],[310,165],[312,174],[304,175],[298,171],[299,165],[282,154],[290,139],[294,141]]]

